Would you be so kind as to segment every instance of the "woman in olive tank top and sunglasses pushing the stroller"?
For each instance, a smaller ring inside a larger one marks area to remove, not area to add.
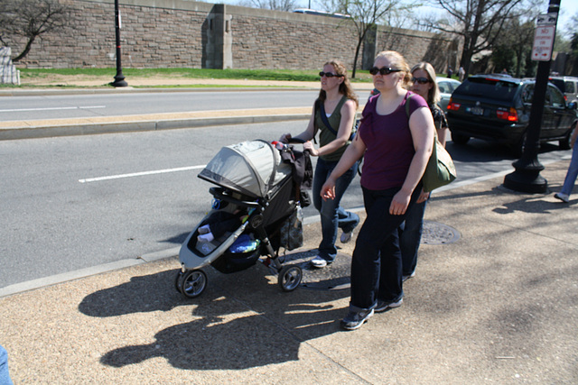
[[[359,215],[345,211],[340,206],[341,197],[357,173],[357,162],[350,164],[350,168],[336,180],[335,199],[324,201],[320,195],[323,183],[337,165],[341,154],[350,145],[351,130],[355,124],[359,105],[358,97],[353,92],[347,78],[347,70],[340,61],[328,61],[323,65],[319,75],[322,89],[313,106],[309,124],[303,133],[296,136],[307,141],[303,144],[304,150],[309,150],[312,156],[319,157],[313,174],[312,195],[313,206],[322,218],[322,242],[319,244],[318,254],[311,261],[315,268],[323,268],[337,257],[335,242],[338,228],[343,231],[340,236],[341,243],[348,243],[353,229],[359,224]],[[331,129],[323,122],[321,105]],[[316,149],[311,140],[318,130],[319,148]],[[287,142],[289,138],[291,133],[285,133],[280,140]]]

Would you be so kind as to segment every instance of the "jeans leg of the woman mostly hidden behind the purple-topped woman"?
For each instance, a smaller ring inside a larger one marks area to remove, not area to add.
[[[399,226],[399,248],[403,261],[403,275],[412,275],[417,265],[417,251],[424,232],[424,214],[427,200],[407,210],[406,221]]]

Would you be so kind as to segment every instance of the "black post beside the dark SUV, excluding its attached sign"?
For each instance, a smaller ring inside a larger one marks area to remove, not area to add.
[[[560,0],[550,0],[548,14],[555,14],[556,21],[559,9]],[[538,63],[536,86],[534,88],[534,98],[532,99],[530,123],[527,127],[524,151],[522,152],[522,157],[512,163],[516,170],[504,177],[504,187],[515,191],[545,193],[548,188],[547,180],[540,175],[540,171],[544,170],[544,166],[538,160],[538,149],[540,148],[540,128],[542,116],[544,115],[545,91],[548,86],[550,61],[540,61]]]

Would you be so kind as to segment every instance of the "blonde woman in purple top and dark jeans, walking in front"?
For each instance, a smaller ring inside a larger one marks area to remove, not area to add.
[[[358,135],[321,192],[323,199],[332,199],[335,180],[364,155],[361,187],[367,217],[351,261],[350,308],[341,320],[346,330],[359,328],[374,312],[402,304],[397,227],[419,197],[433,144],[433,118],[427,102],[416,94],[407,99],[411,74],[404,57],[396,51],[380,52],[369,72],[380,93],[369,99]]]

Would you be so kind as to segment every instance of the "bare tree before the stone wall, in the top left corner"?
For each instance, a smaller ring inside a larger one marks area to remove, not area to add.
[[[69,5],[58,0],[0,0],[0,42],[24,38],[26,44],[12,61],[22,60],[42,35],[70,26]]]

